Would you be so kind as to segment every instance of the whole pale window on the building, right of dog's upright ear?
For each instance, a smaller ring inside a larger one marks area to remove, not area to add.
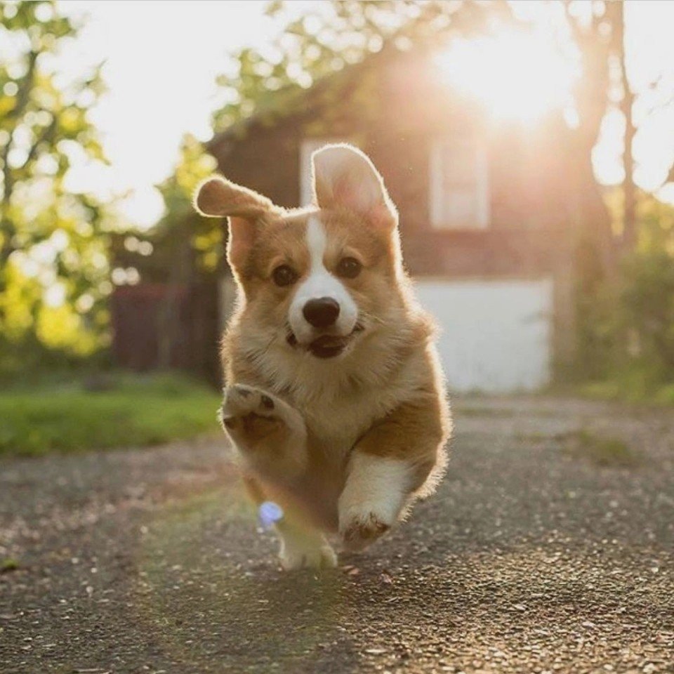
[[[476,136],[443,138],[433,145],[430,220],[439,230],[489,226],[487,147]]]

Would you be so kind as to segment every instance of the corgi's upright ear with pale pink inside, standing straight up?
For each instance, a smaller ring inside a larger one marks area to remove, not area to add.
[[[312,154],[314,198],[321,209],[344,208],[395,226],[397,213],[369,157],[352,145],[326,145]]]

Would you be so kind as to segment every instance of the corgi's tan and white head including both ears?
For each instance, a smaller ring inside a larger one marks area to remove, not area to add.
[[[345,354],[402,303],[397,213],[365,154],[327,145],[312,157],[314,206],[284,211],[224,178],[195,205],[229,217],[227,259],[245,297],[246,324],[270,345],[329,359]]]

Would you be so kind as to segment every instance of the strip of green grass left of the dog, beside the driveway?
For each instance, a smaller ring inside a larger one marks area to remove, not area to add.
[[[15,385],[0,393],[0,456],[152,445],[218,429],[218,392],[176,374]],[[92,390],[93,389],[93,390]]]

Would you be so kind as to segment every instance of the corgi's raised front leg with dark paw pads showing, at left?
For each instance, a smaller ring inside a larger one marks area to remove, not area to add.
[[[307,465],[307,430],[300,413],[258,388],[225,389],[220,418],[225,432],[253,473],[287,483]]]

